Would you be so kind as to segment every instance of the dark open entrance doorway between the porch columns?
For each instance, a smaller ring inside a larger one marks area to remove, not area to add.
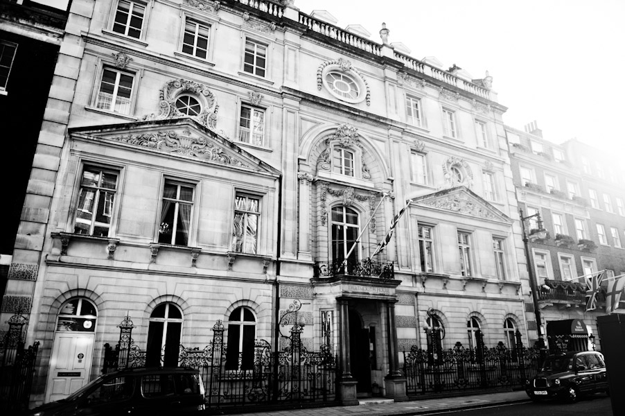
[[[351,375],[358,381],[356,392],[371,394],[371,333],[362,327],[358,312],[349,310],[349,358]],[[375,345],[375,342],[373,342]]]

